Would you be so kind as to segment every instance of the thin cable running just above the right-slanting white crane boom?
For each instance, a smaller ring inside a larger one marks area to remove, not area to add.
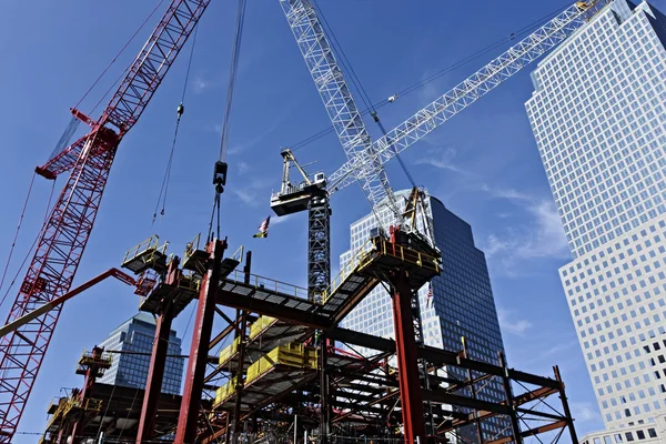
[[[492,52],[493,50],[502,47],[507,41],[515,40],[518,37],[526,34],[527,32],[534,31],[536,28],[541,27],[543,23],[551,20],[553,17],[557,16],[563,10],[563,8],[566,8],[569,4],[571,4],[571,2],[565,3],[565,6],[557,8],[555,11],[542,17],[541,19],[533,21],[532,23],[527,24],[524,28],[521,28],[519,30],[517,30],[515,32],[512,32],[507,37],[504,37],[504,38],[497,40],[496,42],[491,43],[487,47],[456,61],[455,63],[452,63],[451,65],[448,65],[437,72],[434,72],[433,74],[426,77],[425,79],[422,79],[418,82],[415,82],[415,83],[404,88],[403,90],[398,91],[395,95],[396,97],[407,95],[407,94],[418,90],[420,88],[435,81],[436,79],[438,79],[445,74],[448,74],[448,73],[464,67],[465,64],[473,62],[474,60],[480,59],[481,57],[487,54],[488,52]],[[372,107],[369,107],[363,112],[361,112],[361,115],[367,115],[372,112],[373,109],[376,110],[379,108],[383,108],[391,102],[392,102],[392,100],[389,100],[389,99],[380,100],[379,102],[373,103]],[[291,144],[290,148],[293,152],[295,152],[295,151],[300,150],[301,148],[310,145],[311,143],[317,141],[319,139],[332,133],[333,131],[334,131],[334,128],[327,127],[327,128],[322,129],[321,131],[317,131],[316,133],[299,141],[297,143]]]

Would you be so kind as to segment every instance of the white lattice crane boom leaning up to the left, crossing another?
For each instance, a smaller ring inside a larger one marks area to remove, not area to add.
[[[314,7],[310,0],[280,0],[280,4],[346,153],[347,164],[352,165],[361,160],[366,168],[359,181],[367,200],[373,206],[385,201],[396,216],[400,216],[401,212],[384,167],[380,157],[373,152],[372,139]],[[354,180],[354,176],[350,179]]]

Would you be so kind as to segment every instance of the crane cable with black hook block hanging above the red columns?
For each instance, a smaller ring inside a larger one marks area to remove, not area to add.
[[[222,131],[220,135],[220,155],[215,163],[213,174],[213,183],[215,184],[215,196],[209,223],[209,241],[214,238],[214,233],[220,235],[220,194],[224,191],[223,185],[226,184],[226,147],[229,143],[229,131],[231,128],[231,107],[233,104],[233,93],[235,90],[236,73],[239,71],[239,59],[241,56],[241,42],[243,39],[243,28],[245,23],[246,0],[239,0],[239,8],[235,18],[235,29],[233,36],[233,47],[231,51],[231,63],[229,65],[229,80],[226,83],[226,103],[224,107],[224,115],[222,120]],[[219,170],[220,168],[220,170]],[[213,219],[218,214],[218,229],[213,232]]]

